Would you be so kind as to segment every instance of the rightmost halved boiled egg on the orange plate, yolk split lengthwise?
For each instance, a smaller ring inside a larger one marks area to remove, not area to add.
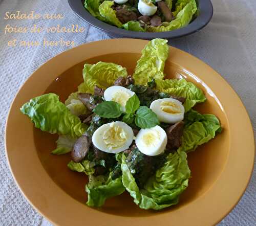
[[[154,111],[160,122],[176,123],[184,118],[185,109],[182,103],[173,98],[163,98],[151,103],[150,109]]]

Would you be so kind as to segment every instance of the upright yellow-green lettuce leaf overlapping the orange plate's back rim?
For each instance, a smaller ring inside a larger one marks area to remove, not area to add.
[[[156,38],[146,44],[133,74],[135,84],[146,85],[152,79],[164,78],[164,63],[169,53],[167,42]]]

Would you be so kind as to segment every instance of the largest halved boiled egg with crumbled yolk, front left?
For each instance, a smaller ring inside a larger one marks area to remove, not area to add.
[[[111,122],[93,133],[93,145],[101,151],[119,153],[129,148],[134,138],[133,129],[124,122]]]

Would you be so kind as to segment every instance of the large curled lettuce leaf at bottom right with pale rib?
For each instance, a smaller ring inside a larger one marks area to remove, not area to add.
[[[135,204],[146,210],[161,210],[177,204],[180,194],[188,186],[190,177],[186,157],[184,151],[168,154],[164,165],[148,179],[143,189],[139,189],[126,164],[125,154],[123,154],[121,164],[122,183],[134,198]]]

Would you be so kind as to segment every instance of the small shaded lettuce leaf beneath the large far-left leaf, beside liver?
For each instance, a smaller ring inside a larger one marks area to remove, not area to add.
[[[52,151],[52,154],[66,154],[72,151],[72,148],[76,142],[76,138],[72,138],[69,135],[59,135],[57,148]]]

